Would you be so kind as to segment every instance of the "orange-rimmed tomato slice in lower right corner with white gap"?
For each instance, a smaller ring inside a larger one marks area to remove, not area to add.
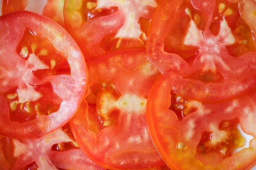
[[[254,91],[254,94],[256,91]],[[248,148],[238,127],[256,137],[252,94],[225,102],[198,102],[172,91],[160,77],[147,102],[150,135],[172,170],[245,170],[256,163],[256,141]]]

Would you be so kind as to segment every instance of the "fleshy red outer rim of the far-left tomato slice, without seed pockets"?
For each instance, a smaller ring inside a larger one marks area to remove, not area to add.
[[[0,119],[1,135],[9,137],[38,137],[60,128],[73,117],[85,94],[85,86],[88,81],[87,67],[79,47],[61,26],[49,20],[49,18],[33,12],[16,11],[2,15],[0,16],[0,27],[0,34],[2,35],[0,48],[4,49],[6,53],[13,54],[13,56],[20,58],[15,52],[16,45],[19,43],[19,38],[22,37],[24,30],[30,28],[36,33],[40,33],[46,37],[57,51],[66,53],[67,61],[71,69],[71,75],[48,76],[40,82],[45,83],[50,81],[54,93],[61,97],[63,101],[66,101],[65,104],[63,103],[63,107],[61,106],[57,112],[49,116],[42,116],[33,121],[26,122],[25,124],[12,122],[8,116],[9,108],[2,97],[0,97],[0,106],[2,108]],[[58,36],[58,38],[56,36]],[[5,41],[3,41],[4,39]],[[63,42],[63,40],[65,41]],[[8,58],[8,60],[13,61],[14,59]],[[1,62],[2,64],[3,62],[6,64],[10,63],[6,60],[2,60]],[[16,81],[18,81],[18,79],[16,79]],[[36,82],[38,83],[38,79],[35,79],[34,83],[36,84]],[[67,84],[68,82],[70,84]],[[68,86],[74,86],[74,82],[77,83],[76,88],[68,89]],[[66,84],[66,86],[60,88],[58,86],[59,83]],[[8,91],[10,85],[11,84],[5,87],[2,86],[0,93]],[[64,91],[69,91],[71,95],[67,95]]]

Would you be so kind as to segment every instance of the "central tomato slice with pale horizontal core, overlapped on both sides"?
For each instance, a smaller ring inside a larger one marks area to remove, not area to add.
[[[81,149],[113,170],[163,165],[146,124],[148,93],[159,72],[147,60],[145,49],[90,60],[88,73],[90,95],[86,99],[96,104],[97,112],[84,101],[70,121]]]

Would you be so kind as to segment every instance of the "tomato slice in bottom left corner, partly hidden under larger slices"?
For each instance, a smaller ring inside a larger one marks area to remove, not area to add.
[[[39,138],[13,139],[5,137],[4,154],[12,170],[106,170],[93,163],[62,129]]]

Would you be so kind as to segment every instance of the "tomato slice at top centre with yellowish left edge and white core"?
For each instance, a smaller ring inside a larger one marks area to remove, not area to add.
[[[156,6],[155,0],[65,0],[65,28],[81,47],[85,60],[113,49],[144,47]]]

